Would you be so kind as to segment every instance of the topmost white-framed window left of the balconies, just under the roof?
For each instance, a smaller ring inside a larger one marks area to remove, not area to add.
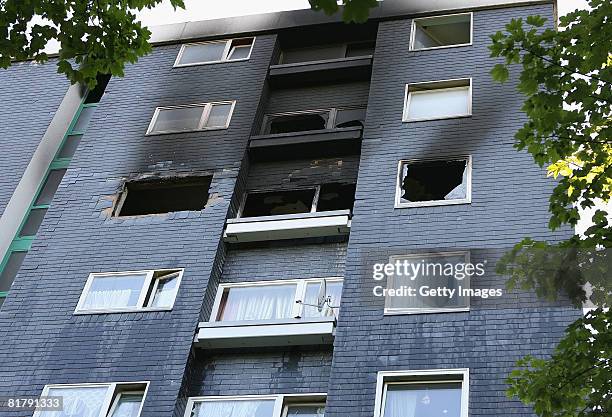
[[[248,59],[255,38],[224,39],[181,46],[175,67]]]

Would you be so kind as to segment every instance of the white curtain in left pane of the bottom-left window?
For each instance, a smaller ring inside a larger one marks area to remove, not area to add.
[[[100,417],[108,387],[51,388],[48,396],[63,397],[63,411],[43,411],[40,417]]]

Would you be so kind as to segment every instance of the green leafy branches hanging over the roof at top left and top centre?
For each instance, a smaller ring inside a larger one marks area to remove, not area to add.
[[[58,72],[71,83],[96,85],[96,75],[123,76],[125,65],[151,52],[151,32],[136,12],[163,0],[0,0],[0,68],[13,60],[45,62],[50,40],[60,44]],[[202,0],[205,1],[205,0]],[[183,0],[170,0],[176,9]],[[335,13],[336,0],[310,0],[314,10]],[[344,0],[346,21],[364,21],[376,0]]]

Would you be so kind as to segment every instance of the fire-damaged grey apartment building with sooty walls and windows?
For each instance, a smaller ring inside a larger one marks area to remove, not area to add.
[[[0,415],[533,415],[505,378],[580,312],[481,296],[518,240],[571,233],[489,75],[489,35],[532,14],[555,4],[168,25],[93,91],[53,59],[0,71],[0,396],[64,409]],[[484,274],[382,292],[410,280],[377,264],[423,260]]]

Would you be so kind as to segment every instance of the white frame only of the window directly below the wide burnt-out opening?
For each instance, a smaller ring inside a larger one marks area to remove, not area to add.
[[[149,298],[149,301],[152,301],[153,297],[155,296],[155,290],[157,289],[157,286],[159,284],[159,279],[153,278],[153,275],[156,272],[166,272],[166,271],[167,272],[177,271],[179,274],[177,277],[178,282],[176,284],[176,292],[174,293],[172,304],[169,307],[149,307],[149,306],[144,305],[149,289],[151,289],[152,287],[151,297]],[[174,303],[176,301],[176,297],[178,296],[178,291],[180,289],[181,281],[183,278],[183,272],[185,272],[184,268],[164,268],[164,269],[149,269],[149,270],[143,270],[143,271],[91,273],[89,274],[89,277],[87,278],[87,282],[85,282],[85,287],[83,288],[83,291],[81,292],[81,296],[79,297],[79,302],[77,303],[77,306],[74,309],[74,314],[105,314],[105,313],[134,313],[134,312],[139,312],[139,311],[170,311],[172,310],[172,308],[174,308]],[[89,293],[89,290],[91,289],[91,285],[94,279],[104,278],[104,277],[120,277],[124,275],[134,275],[134,274],[146,274],[145,282],[142,288],[140,289],[140,295],[138,297],[138,302],[135,307],[98,308],[98,309],[90,309],[90,310],[83,308],[83,304],[85,303],[85,300],[87,299],[87,294]],[[155,282],[152,282],[153,280],[155,280]]]

